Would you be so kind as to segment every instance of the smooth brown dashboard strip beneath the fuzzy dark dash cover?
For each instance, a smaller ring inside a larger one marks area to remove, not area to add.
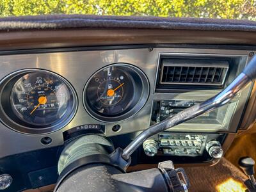
[[[215,44],[256,45],[247,31],[196,31],[164,29],[58,29],[0,33],[0,49],[42,49],[99,45]],[[242,47],[241,47],[242,48]]]

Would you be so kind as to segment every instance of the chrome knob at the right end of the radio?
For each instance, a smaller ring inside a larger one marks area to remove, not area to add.
[[[220,159],[223,156],[223,150],[219,141],[209,141],[206,143],[206,150],[214,159]]]

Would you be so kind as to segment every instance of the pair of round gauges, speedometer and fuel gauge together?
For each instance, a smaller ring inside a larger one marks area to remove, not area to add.
[[[1,120],[18,132],[53,132],[76,115],[78,97],[72,84],[48,70],[14,72],[1,81],[0,90]],[[86,111],[96,120],[120,122],[140,111],[148,94],[147,77],[139,68],[116,63],[95,72],[81,98]]]

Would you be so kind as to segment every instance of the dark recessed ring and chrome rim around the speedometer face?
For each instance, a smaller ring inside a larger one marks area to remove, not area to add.
[[[58,122],[52,125],[33,126],[27,122],[22,122],[22,120],[14,115],[12,106],[10,106],[12,104],[12,99],[10,96],[12,94],[13,85],[20,79],[20,77],[33,72],[42,72],[51,74],[51,76],[58,77],[58,79],[65,83],[72,95],[72,103],[71,108],[68,109],[68,115],[63,116],[63,118],[60,118]],[[0,81],[0,103],[1,122],[10,129],[24,134],[48,134],[54,131],[58,131],[65,127],[65,125],[67,125],[72,120],[72,118],[74,118],[78,107],[77,94],[72,84],[70,84],[64,77],[49,70],[40,68],[26,68],[13,72],[12,74],[4,77],[4,79]]]

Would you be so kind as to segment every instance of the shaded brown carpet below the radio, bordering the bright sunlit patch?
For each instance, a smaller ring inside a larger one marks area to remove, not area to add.
[[[216,186],[232,178],[241,184],[248,179],[234,164],[222,158],[215,166],[184,168],[190,181],[189,191],[217,191]]]

